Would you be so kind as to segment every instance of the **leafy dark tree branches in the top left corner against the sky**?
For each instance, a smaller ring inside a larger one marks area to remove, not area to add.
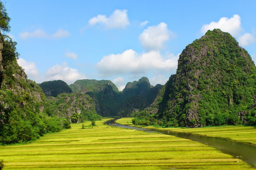
[[[10,32],[10,22],[11,18],[8,16],[6,12],[5,6],[3,5],[2,1],[0,1],[0,30],[5,32]]]

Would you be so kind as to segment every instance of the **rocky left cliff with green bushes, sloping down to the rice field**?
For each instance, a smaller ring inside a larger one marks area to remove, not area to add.
[[[27,79],[16,60],[5,67],[3,75],[0,90],[0,143],[35,140],[46,132],[61,129],[58,123],[51,124],[51,121],[58,120],[48,117],[53,116],[53,113],[49,110],[49,102],[42,89]]]

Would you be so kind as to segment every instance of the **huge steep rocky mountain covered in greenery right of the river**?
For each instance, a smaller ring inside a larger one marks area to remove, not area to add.
[[[255,94],[250,55],[229,33],[214,29],[186,46],[176,74],[144,114],[165,126],[256,125]]]

